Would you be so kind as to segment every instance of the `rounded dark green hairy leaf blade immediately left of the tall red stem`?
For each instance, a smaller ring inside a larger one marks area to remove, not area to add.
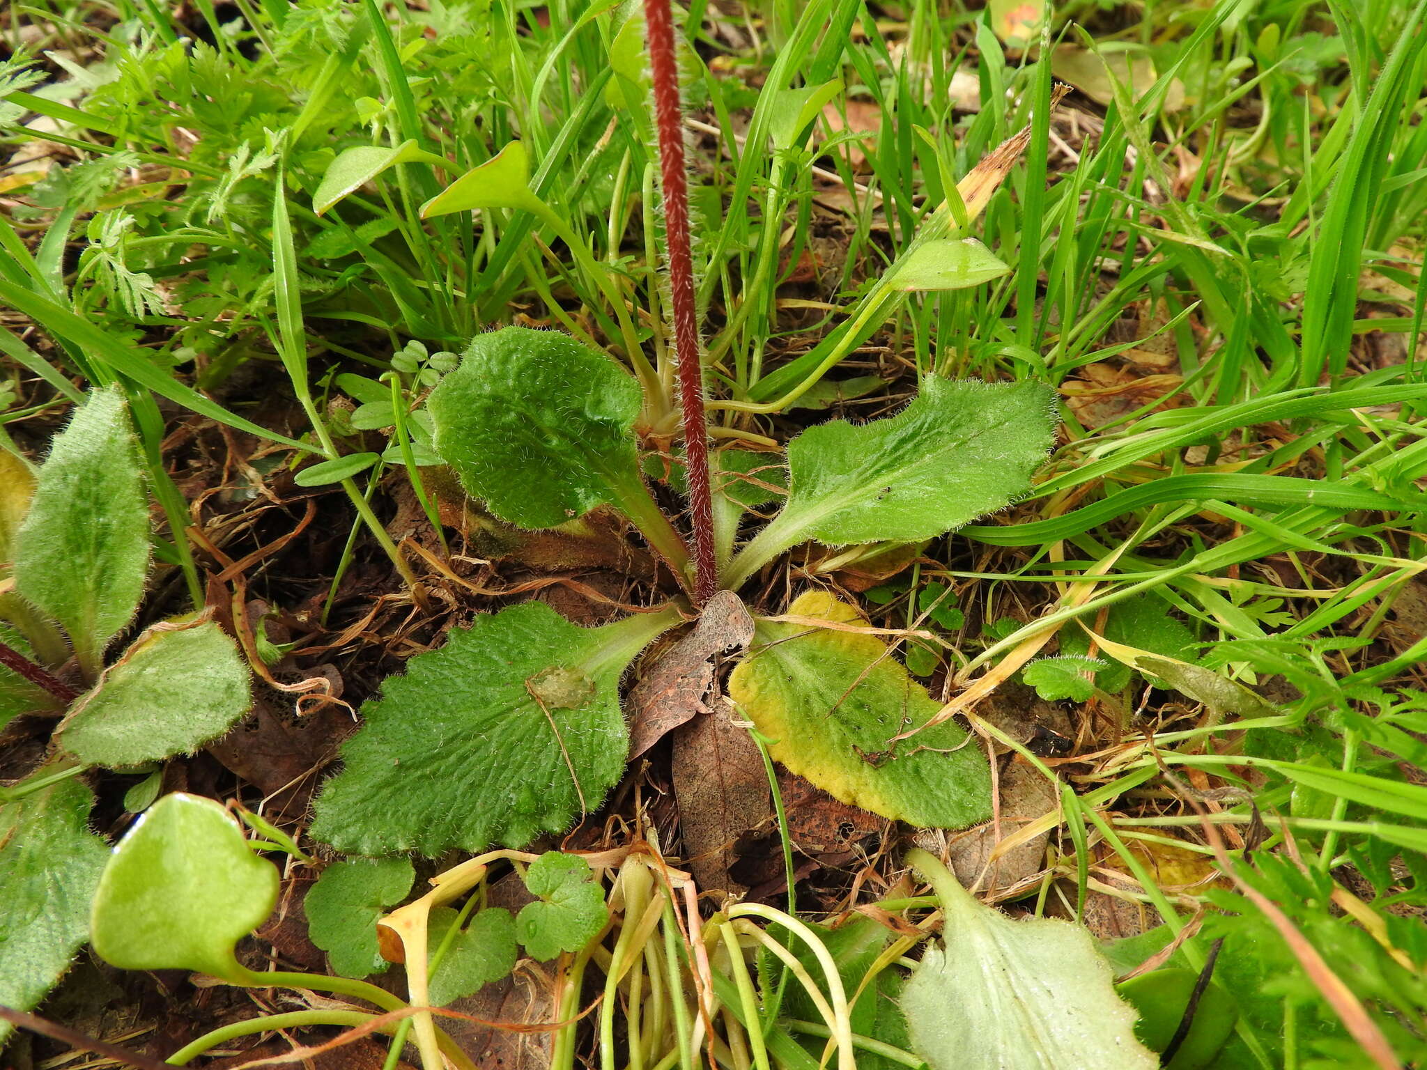
[[[431,392],[435,449],[502,521],[554,528],[644,494],[639,384],[557,331],[478,334]],[[626,509],[628,512],[628,509]]]

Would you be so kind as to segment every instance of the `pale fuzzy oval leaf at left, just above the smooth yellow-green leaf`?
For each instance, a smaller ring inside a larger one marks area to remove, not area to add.
[[[250,706],[248,666],[218,625],[158,625],[104,671],[59,739],[87,765],[143,765],[191,755]]]

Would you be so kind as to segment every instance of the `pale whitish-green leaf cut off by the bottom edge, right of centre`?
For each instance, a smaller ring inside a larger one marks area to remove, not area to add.
[[[946,912],[902,992],[912,1050],[930,1070],[1156,1070],[1110,966],[1072,922],[1013,922],[982,906],[925,850],[908,852]]]

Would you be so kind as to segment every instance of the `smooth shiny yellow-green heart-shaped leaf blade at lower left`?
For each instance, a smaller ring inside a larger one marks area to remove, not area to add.
[[[90,942],[124,970],[197,970],[241,984],[233,947],[277,903],[278,876],[211,799],[166,795],[114,847]]]

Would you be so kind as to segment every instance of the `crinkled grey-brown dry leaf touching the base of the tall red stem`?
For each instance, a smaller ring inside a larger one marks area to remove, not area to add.
[[[742,599],[732,591],[714,595],[694,631],[661,655],[629,692],[629,759],[704,712],[714,688],[714,658],[742,651],[752,639],[753,618]]]

